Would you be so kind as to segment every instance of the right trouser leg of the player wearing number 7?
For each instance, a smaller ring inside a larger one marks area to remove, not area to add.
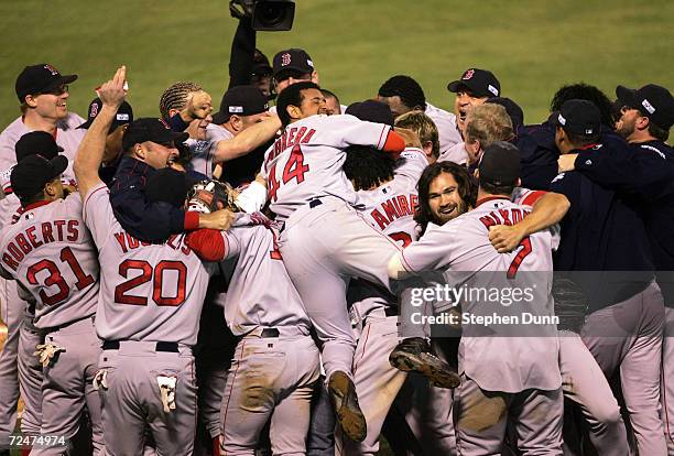
[[[562,456],[564,394],[526,390],[517,394],[510,415],[515,422],[517,446],[524,456]]]

